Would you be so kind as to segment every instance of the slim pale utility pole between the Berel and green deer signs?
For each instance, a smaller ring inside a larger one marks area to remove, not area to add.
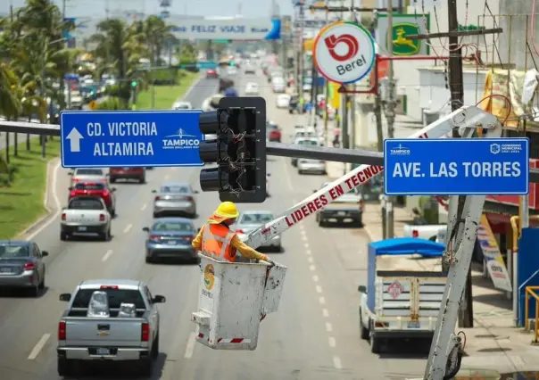
[[[387,67],[387,138],[394,138],[395,101],[394,101],[394,71],[393,71],[393,1],[387,2],[387,51],[389,62]],[[394,237],[394,197],[386,197],[387,238]]]

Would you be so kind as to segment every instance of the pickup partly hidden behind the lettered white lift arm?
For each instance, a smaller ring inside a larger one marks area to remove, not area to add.
[[[326,182],[320,188],[328,186]],[[318,190],[313,190],[316,193]],[[363,198],[358,189],[353,189],[347,194],[341,195],[335,201],[316,213],[316,221],[319,227],[325,227],[330,221],[344,223],[349,221],[357,227],[363,226]]]

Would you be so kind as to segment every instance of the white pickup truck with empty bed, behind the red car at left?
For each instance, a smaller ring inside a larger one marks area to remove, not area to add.
[[[72,235],[98,235],[105,242],[111,240],[111,214],[103,199],[95,196],[76,196],[62,209],[60,240]]]

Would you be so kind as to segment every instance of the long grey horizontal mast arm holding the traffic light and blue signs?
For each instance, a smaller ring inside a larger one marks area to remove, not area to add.
[[[0,132],[28,133],[30,135],[60,136],[57,124],[40,124],[27,121],[0,120]],[[331,148],[328,146],[306,146],[268,143],[266,153],[273,156],[318,159],[365,165],[384,165],[384,153],[369,150]],[[539,169],[530,169],[529,181],[539,184]]]

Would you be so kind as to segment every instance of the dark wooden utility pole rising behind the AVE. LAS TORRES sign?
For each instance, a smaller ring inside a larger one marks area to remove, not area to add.
[[[457,16],[457,0],[447,2],[448,27],[450,32],[459,31],[459,20]],[[449,37],[449,90],[451,92],[451,109],[458,110],[464,104],[463,74],[462,74],[462,49],[459,47],[459,37]],[[459,130],[453,129],[453,137],[460,137]],[[465,196],[459,196],[458,212],[464,209]],[[460,215],[460,214],[458,214]],[[447,258],[443,260],[443,270],[449,270]],[[466,288],[464,290],[464,302],[460,303],[459,327],[470,328],[474,326],[474,310],[472,302],[471,288],[471,267],[468,271]]]

